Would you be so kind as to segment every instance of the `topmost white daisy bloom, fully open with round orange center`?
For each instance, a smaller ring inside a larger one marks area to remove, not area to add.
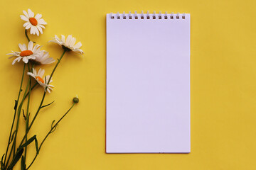
[[[46,25],[46,21],[43,20],[41,14],[36,14],[34,17],[34,13],[31,11],[31,9],[28,9],[28,13],[26,11],[23,11],[24,15],[21,15],[21,19],[23,21],[26,21],[26,23],[23,24],[23,27],[25,27],[26,30],[31,28],[31,34],[38,35],[39,31],[41,34],[43,34],[43,29],[45,28],[43,25]]]

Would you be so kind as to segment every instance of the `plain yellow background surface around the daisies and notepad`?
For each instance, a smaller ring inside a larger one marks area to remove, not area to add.
[[[80,103],[50,135],[31,169],[256,169],[256,1],[2,0],[0,6],[1,154],[23,67],[12,66],[5,54],[27,43],[19,15],[31,8],[48,23],[43,35],[30,35],[43,50],[60,57],[62,49],[48,40],[72,34],[85,51],[83,57],[65,55],[53,76],[55,88],[45,103],[55,103],[38,115],[29,135],[41,142],[75,94]],[[105,154],[105,14],[142,10],[191,13],[190,154]],[[43,68],[50,74],[53,64]],[[31,114],[42,94],[41,88],[33,91]],[[35,153],[31,145],[28,161]]]

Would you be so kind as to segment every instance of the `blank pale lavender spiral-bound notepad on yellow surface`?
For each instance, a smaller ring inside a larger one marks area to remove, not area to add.
[[[108,13],[107,153],[188,153],[190,14]]]

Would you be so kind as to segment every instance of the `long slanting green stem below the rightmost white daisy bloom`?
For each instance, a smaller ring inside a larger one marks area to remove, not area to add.
[[[60,60],[61,60],[61,59],[63,58],[63,56],[65,55],[65,52],[66,52],[66,50],[63,51],[63,54],[60,56],[60,59],[59,59],[58,62],[55,64],[55,67],[54,67],[54,69],[53,69],[53,72],[50,74],[50,78],[49,78],[47,84],[50,83],[50,79],[53,77],[53,74],[54,74],[54,72],[55,72],[55,69],[58,67],[58,64],[60,63]],[[41,110],[41,107],[42,107],[42,105],[43,105],[44,98],[46,97],[47,88],[48,88],[48,86],[46,86],[46,90],[45,90],[44,93],[43,93],[43,98],[42,98],[41,103],[40,103],[40,105],[39,105],[39,107],[38,107],[38,110],[36,111],[36,115],[33,117],[33,120],[31,121],[31,124],[28,126],[28,130],[27,130],[26,134],[29,132],[29,130],[31,130],[31,127],[32,127],[34,121],[36,120],[36,117],[37,117],[39,111]],[[19,147],[21,147],[21,145],[23,144],[23,141],[25,140],[26,134],[24,135],[23,139],[21,140],[21,144],[19,145]]]

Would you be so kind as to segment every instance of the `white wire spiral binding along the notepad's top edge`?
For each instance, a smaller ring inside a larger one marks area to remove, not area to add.
[[[186,13],[182,13],[181,17],[180,17],[180,13],[176,13],[176,18],[174,18],[174,13],[172,12],[170,14],[170,16],[168,17],[168,13],[165,12],[164,14],[161,13],[161,11],[159,11],[159,14],[156,14],[156,11],[153,11],[152,16],[150,16],[149,11],[147,11],[146,13],[144,13],[142,11],[141,14],[138,14],[137,11],[134,11],[134,14],[132,14],[130,11],[129,13],[125,13],[123,12],[122,14],[120,14],[119,12],[117,12],[117,19],[120,19],[122,17],[122,19],[150,19],[150,17],[152,19],[156,19],[156,15],[158,15],[158,19],[185,19]],[[146,16],[146,17],[144,17]],[[110,13],[110,18],[114,19],[114,15],[113,13]]]

